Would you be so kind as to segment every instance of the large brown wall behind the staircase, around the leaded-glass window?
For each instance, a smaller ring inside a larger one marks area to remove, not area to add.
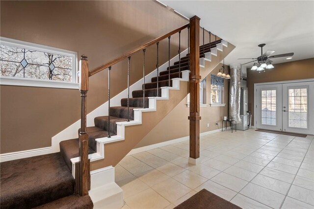
[[[86,54],[90,69],[188,22],[156,1],[0,1],[0,7],[1,37]],[[183,49],[186,34],[182,31]],[[171,57],[178,42],[178,35],[171,38]],[[146,55],[149,73],[156,66],[156,46]],[[142,53],[131,57],[131,84],[142,76],[142,59]],[[166,40],[159,61],[167,59]],[[126,61],[112,67],[111,96],[127,88],[126,70]],[[87,112],[105,101],[107,70],[90,78]],[[1,85],[0,106],[0,153],[51,146],[55,134],[80,118],[78,90]]]

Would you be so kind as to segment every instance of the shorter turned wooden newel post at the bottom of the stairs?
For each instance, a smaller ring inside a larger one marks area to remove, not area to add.
[[[86,94],[88,91],[88,60],[81,55],[79,61],[79,91],[81,96],[81,123],[78,135],[79,163],[76,165],[76,191],[80,196],[88,194],[90,168],[88,160],[88,134],[86,133]]]

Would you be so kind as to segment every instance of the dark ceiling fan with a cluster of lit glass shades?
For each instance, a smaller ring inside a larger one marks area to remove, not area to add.
[[[291,53],[286,53],[286,54],[271,55],[272,53],[275,52],[274,50],[267,50],[265,53],[263,53],[263,47],[265,45],[266,44],[258,45],[259,47],[261,47],[261,51],[262,51],[261,52],[261,56],[259,56],[257,58],[240,58],[238,60],[243,60],[243,59],[252,59],[253,60],[251,62],[247,62],[247,63],[244,63],[242,65],[246,65],[246,64],[249,64],[249,63],[257,61],[257,63],[254,63],[254,65],[251,68],[251,70],[261,71],[261,70],[265,70],[265,69],[274,68],[274,66],[271,64],[273,61],[270,60],[270,58],[290,57],[290,56],[293,56],[293,54],[294,54],[293,52],[291,52]]]

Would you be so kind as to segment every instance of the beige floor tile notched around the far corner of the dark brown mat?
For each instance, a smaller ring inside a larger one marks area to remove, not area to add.
[[[230,201],[236,195],[235,191],[224,186],[218,185],[217,183],[214,183],[210,180],[205,182],[201,186],[195,188],[194,190],[196,192],[199,192],[203,188],[228,201]]]

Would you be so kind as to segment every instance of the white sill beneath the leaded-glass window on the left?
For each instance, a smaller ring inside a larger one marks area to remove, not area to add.
[[[29,86],[29,87],[44,87],[58,89],[78,89],[78,83],[52,80],[39,80],[30,78],[15,78],[0,76],[1,85],[9,86]]]

